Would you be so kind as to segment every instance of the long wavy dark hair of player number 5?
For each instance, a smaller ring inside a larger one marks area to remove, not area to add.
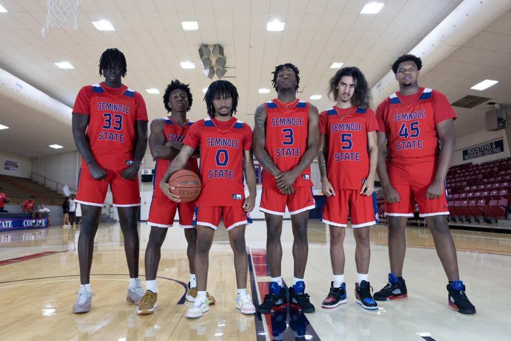
[[[371,95],[369,85],[364,75],[358,67],[355,66],[343,67],[330,78],[328,97],[331,98],[330,96],[333,96],[334,101],[337,101],[339,81],[344,76],[352,77],[355,82],[355,91],[352,97],[353,104],[361,108],[369,108],[371,102],[373,102],[373,96]]]

